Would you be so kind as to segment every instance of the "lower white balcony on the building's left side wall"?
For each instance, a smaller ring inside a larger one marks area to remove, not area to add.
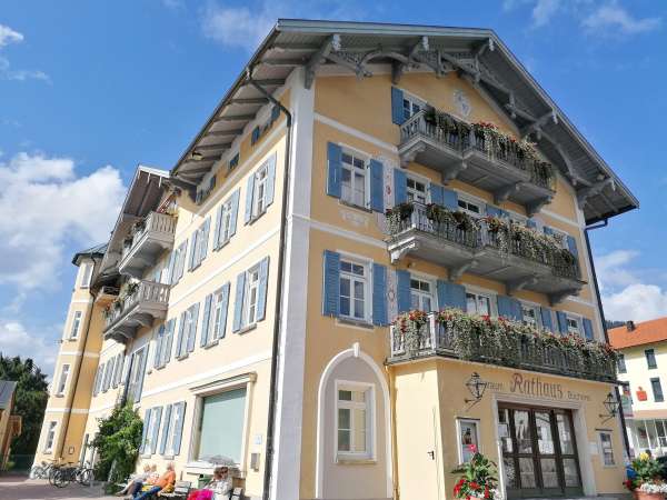
[[[142,280],[121,291],[107,309],[104,339],[126,342],[140,327],[151,327],[167,316],[169,284]]]

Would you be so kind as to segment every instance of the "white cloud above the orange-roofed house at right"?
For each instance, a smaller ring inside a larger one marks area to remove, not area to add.
[[[616,250],[596,258],[596,271],[605,318],[646,321],[667,316],[667,290],[641,282],[641,270],[633,269],[636,250]]]

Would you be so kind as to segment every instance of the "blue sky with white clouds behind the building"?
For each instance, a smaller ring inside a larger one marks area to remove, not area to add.
[[[495,29],[641,202],[593,237],[607,316],[667,314],[666,3],[3,0],[0,351],[52,369],[71,254],[137,163],[173,166],[279,17]]]

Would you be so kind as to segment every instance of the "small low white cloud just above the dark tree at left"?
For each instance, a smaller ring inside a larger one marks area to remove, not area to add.
[[[0,353],[6,357],[32,358],[42,372],[53,373],[58,354],[56,341],[47,341],[43,332],[29,332],[19,321],[0,320]]]

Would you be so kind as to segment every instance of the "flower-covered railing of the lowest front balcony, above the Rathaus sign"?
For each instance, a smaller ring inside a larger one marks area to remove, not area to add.
[[[438,313],[435,312],[429,313],[417,338],[412,339],[409,339],[409,336],[398,326],[391,326],[389,361],[398,362],[428,356],[460,358],[455,349],[456,337],[459,333],[447,323],[438,321],[437,316]],[[517,333],[512,342],[505,342],[504,351],[500,351],[496,344],[485,344],[478,339],[468,348],[469,359],[472,361],[587,380],[616,380],[616,364],[611,357],[593,359],[577,356],[569,349],[528,338],[521,333]]]

